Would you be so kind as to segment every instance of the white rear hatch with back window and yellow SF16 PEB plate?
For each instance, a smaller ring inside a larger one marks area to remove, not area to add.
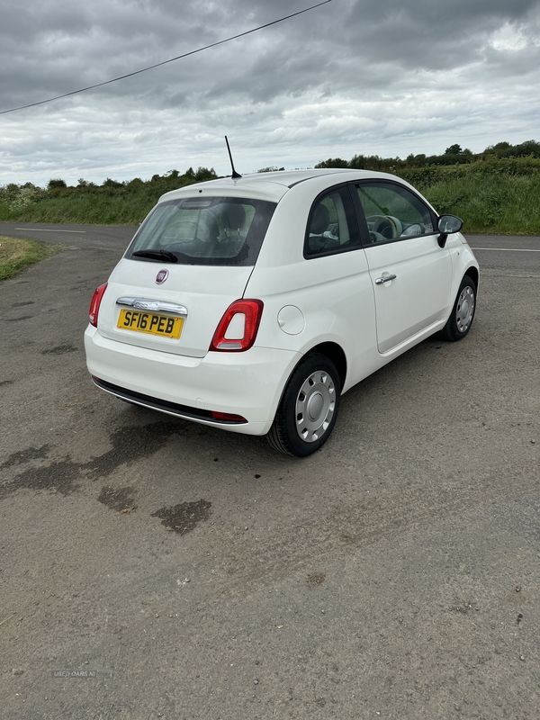
[[[242,298],[275,203],[229,197],[160,202],[103,295],[98,330],[133,346],[203,357]]]

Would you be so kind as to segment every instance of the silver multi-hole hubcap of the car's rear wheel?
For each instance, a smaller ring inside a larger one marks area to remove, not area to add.
[[[336,387],[328,373],[317,371],[302,384],[296,399],[296,431],[306,443],[314,443],[329,428],[336,408]]]

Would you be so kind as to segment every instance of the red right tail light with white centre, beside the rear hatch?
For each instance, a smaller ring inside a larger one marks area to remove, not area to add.
[[[248,350],[257,338],[262,314],[263,302],[260,300],[233,302],[220,320],[210,349],[221,353]]]

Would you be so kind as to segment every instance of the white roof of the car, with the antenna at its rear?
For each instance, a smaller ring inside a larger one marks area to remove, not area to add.
[[[175,200],[193,193],[204,193],[211,196],[225,197],[251,197],[259,200],[279,202],[294,185],[304,183],[315,178],[328,176],[328,186],[347,183],[353,180],[393,179],[399,180],[395,175],[377,173],[371,170],[350,170],[348,168],[315,167],[306,170],[278,170],[272,173],[253,173],[241,177],[220,177],[206,183],[187,185],[162,195],[159,202]],[[403,181],[401,181],[403,182]]]

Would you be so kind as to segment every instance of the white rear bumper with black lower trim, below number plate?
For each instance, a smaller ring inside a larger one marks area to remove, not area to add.
[[[117,397],[194,422],[266,435],[300,354],[251,347],[245,353],[176,356],[103,338],[88,326],[86,365],[94,383]],[[212,419],[233,413],[246,422]]]

